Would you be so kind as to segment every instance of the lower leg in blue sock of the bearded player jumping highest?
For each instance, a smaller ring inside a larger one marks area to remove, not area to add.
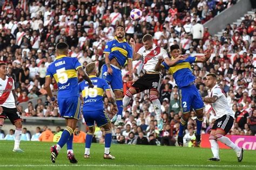
[[[115,126],[123,126],[124,122],[122,121],[123,116],[123,91],[121,90],[114,90],[114,95],[116,96],[116,103],[117,103],[117,121],[114,123]]]

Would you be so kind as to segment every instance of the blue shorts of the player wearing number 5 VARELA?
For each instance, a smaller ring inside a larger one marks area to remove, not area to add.
[[[58,105],[61,117],[79,119],[81,106],[79,97],[58,98]]]

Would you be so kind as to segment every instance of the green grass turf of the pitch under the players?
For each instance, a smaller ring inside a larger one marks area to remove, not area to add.
[[[92,144],[91,159],[84,159],[84,144],[74,144],[78,164],[66,158],[66,147],[56,164],[50,162],[52,143],[21,142],[25,153],[14,153],[14,141],[0,141],[0,169],[256,169],[256,152],[245,151],[244,160],[237,161],[233,150],[220,150],[220,162],[206,161],[212,156],[206,148],[112,145],[115,160],[104,160],[104,145]]]

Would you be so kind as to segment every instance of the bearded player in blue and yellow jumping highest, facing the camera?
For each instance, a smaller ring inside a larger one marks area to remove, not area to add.
[[[105,79],[114,91],[117,101],[117,117],[114,116],[111,120],[115,126],[123,126],[123,81],[121,68],[125,65],[126,60],[129,70],[129,79],[133,79],[132,75],[132,54],[133,49],[125,40],[125,27],[118,25],[114,31],[115,38],[112,41],[106,43],[105,53],[105,65],[101,68],[100,78]],[[132,38],[130,40],[134,41]]]

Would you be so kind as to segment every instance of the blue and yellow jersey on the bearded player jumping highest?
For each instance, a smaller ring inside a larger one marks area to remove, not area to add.
[[[127,59],[132,60],[132,47],[126,40],[118,41],[115,37],[114,40],[109,41],[105,45],[104,53],[109,53],[109,59],[116,58],[121,67],[124,67]]]

